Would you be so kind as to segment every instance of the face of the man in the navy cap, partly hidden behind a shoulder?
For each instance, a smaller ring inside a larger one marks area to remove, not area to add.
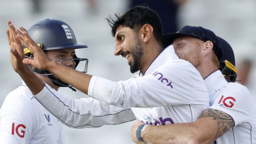
[[[189,61],[194,67],[198,67],[201,64],[200,47],[202,42],[197,38],[182,36],[173,41],[173,47],[180,59]]]

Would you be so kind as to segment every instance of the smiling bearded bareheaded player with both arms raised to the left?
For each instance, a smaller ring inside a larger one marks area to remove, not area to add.
[[[58,65],[47,58],[21,27],[22,32],[16,30],[20,36],[17,38],[36,57],[23,62],[50,71],[64,82],[107,104],[131,108],[134,116],[144,123],[165,125],[195,121],[209,106],[207,88],[200,73],[189,62],[179,59],[172,46],[163,49],[162,26],[157,13],[137,6],[117,16],[116,21],[109,20],[109,23],[113,24],[115,55],[127,58],[131,72],[140,70],[139,76],[113,82]],[[215,44],[219,50],[218,41]],[[26,82],[28,77],[20,75]],[[84,117],[80,113],[82,105],[85,105],[83,102],[59,94],[40,80],[27,82],[35,98],[66,125],[87,125],[87,121],[81,119]],[[100,110],[105,111],[102,107]],[[105,124],[105,121],[95,122],[99,126]]]

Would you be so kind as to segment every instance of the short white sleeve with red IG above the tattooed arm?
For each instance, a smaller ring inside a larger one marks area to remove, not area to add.
[[[251,120],[251,114],[254,112],[254,104],[249,90],[237,83],[219,93],[209,108],[229,114],[233,118],[235,126]]]

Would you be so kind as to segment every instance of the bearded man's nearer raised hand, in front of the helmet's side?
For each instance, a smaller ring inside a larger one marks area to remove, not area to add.
[[[25,28],[20,27],[20,30],[22,32],[18,29],[15,30],[18,34],[16,35],[16,38],[34,54],[34,59],[25,58],[23,59],[23,63],[33,65],[41,70],[47,70],[48,64],[52,62],[52,60],[50,60],[43,50],[30,38]]]

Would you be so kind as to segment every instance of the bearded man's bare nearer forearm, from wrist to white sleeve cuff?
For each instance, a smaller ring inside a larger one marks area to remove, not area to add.
[[[88,86],[92,77],[91,75],[76,71],[54,61],[51,61],[47,70],[56,78],[59,78],[83,93],[88,94]]]

